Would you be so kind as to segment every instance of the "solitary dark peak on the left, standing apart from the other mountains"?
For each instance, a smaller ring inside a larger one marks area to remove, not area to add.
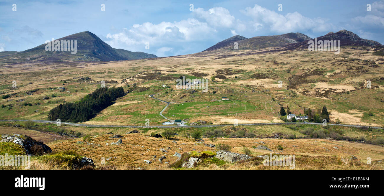
[[[76,40],[76,54],[71,54],[71,51],[46,51],[45,47],[47,44],[41,44],[40,46],[36,46],[23,52],[15,51],[0,53],[0,60],[4,59],[2,60],[2,63],[11,63],[39,61],[114,61],[157,58],[154,54],[131,52],[124,49],[114,49],[89,31],[72,34],[56,40]]]

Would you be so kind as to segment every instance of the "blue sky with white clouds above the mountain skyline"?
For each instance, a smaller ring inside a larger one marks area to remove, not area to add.
[[[384,44],[384,0],[0,0],[0,52],[90,31],[111,47],[164,57],[234,35],[341,29]]]

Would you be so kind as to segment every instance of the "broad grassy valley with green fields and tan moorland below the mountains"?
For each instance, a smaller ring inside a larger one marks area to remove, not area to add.
[[[296,155],[296,169],[383,169],[384,57],[375,53],[382,46],[350,33],[326,35],[350,38],[341,42],[340,54],[308,51],[303,46],[312,38],[289,33],[230,38],[203,52],[172,57],[102,62],[0,59],[0,134],[10,129],[15,134],[46,133],[44,143],[53,152],[74,151],[91,158],[96,168],[178,169],[169,167],[177,162],[175,152],[216,152],[220,149],[205,144],[220,144],[235,153],[248,149],[253,159],[204,160],[194,168],[288,169],[268,168],[257,157],[271,152]],[[233,49],[233,41],[238,41],[238,49]],[[208,80],[208,91],[178,89],[177,79],[183,76]],[[101,88],[102,81],[106,88],[122,87],[125,94],[78,123],[86,126],[47,121],[51,109],[76,103]],[[322,115],[324,106],[329,113],[326,126],[321,121],[289,124],[281,115],[281,107],[296,116],[308,115],[309,109],[314,116]],[[185,126],[164,126],[167,119],[180,119]],[[28,126],[28,120],[36,121]],[[153,137],[167,130],[174,133],[170,139]],[[123,136],[122,144],[111,144],[118,138],[110,138],[109,132]],[[201,138],[194,139],[194,132]],[[271,151],[257,149],[261,141]],[[154,155],[166,159],[152,160]],[[100,165],[102,157],[112,158]],[[367,165],[367,157],[375,163]],[[63,169],[41,165],[38,157],[33,164],[36,169]]]

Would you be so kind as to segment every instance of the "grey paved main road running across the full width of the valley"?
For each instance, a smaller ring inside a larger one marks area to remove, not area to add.
[[[23,121],[33,121],[36,123],[52,123],[56,124],[56,121],[44,121],[44,120],[16,120],[16,119],[3,119],[0,122],[23,122]],[[210,125],[184,125],[184,126],[131,126],[131,125],[98,125],[98,124],[80,124],[80,123],[66,123],[61,122],[61,124],[68,124],[72,126],[80,126],[80,127],[127,127],[127,128],[175,128],[175,127],[185,127],[185,128],[201,128],[201,127],[223,127],[223,126],[233,126],[233,124],[210,124]],[[248,123],[248,124],[238,124],[243,126],[263,126],[263,125],[281,125],[281,124],[316,124],[321,125],[322,123]],[[360,126],[360,125],[352,125],[352,124],[331,124],[335,126],[346,126],[346,127],[358,127],[358,128],[368,128],[369,126]],[[384,129],[382,127],[371,127],[372,129]]]

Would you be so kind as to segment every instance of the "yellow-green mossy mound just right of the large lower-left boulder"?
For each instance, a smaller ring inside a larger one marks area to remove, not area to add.
[[[76,169],[81,167],[81,156],[71,150],[43,155],[38,158],[41,162],[58,166],[60,168]]]

